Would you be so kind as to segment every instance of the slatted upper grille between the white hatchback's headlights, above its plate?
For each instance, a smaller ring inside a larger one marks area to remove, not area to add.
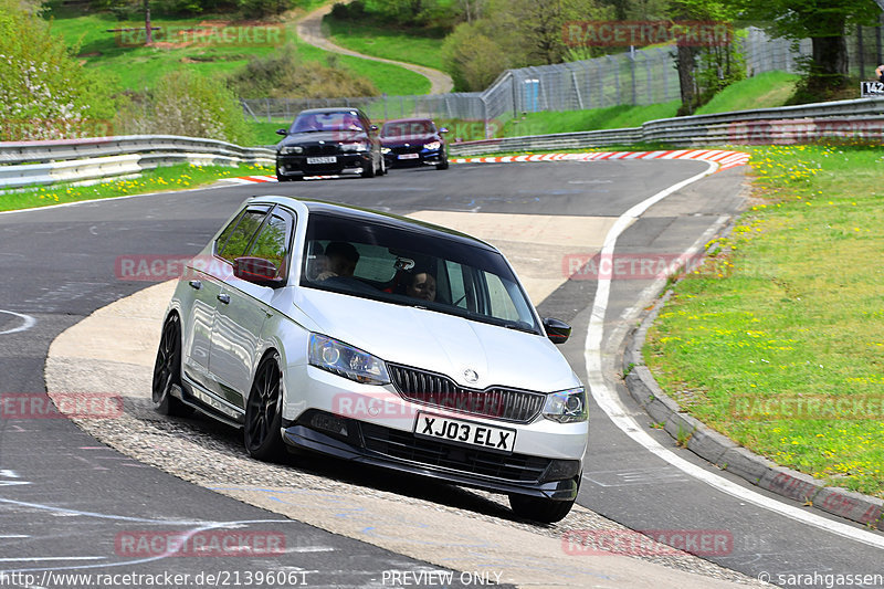
[[[446,376],[398,365],[388,365],[388,368],[396,390],[404,399],[448,411],[528,423],[546,401],[546,395],[540,392],[504,387],[467,389]]]

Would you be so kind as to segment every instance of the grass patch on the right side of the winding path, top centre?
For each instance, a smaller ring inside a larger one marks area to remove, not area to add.
[[[444,32],[397,27],[378,20],[337,20],[330,14],[323,27],[335,44],[366,55],[424,65],[444,71]]]

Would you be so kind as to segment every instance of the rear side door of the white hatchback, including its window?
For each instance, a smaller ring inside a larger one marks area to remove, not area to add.
[[[212,254],[192,260],[187,269],[190,297],[182,297],[181,306],[186,317],[182,362],[185,375],[203,388],[212,389],[209,376],[209,355],[211,353],[212,328],[215,307],[221,288],[230,272],[230,265],[222,262],[220,253],[228,244],[248,244],[261,227],[270,206],[246,207],[224,228],[212,243]]]

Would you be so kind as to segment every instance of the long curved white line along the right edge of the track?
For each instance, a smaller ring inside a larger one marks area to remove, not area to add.
[[[683,180],[671,186],[670,188],[666,188],[665,190],[657,192],[656,194],[653,194],[652,197],[649,197],[621,214],[604,238],[604,245],[602,246],[601,255],[612,255],[617,244],[617,239],[620,236],[620,233],[622,233],[632,221],[644,213],[652,204],[663,200],[676,190],[680,190],[685,186],[714,173],[717,168],[717,164],[714,161],[708,161],[708,165],[709,167],[706,169],[706,171],[697,173],[696,176],[692,176],[686,180]],[[843,524],[841,522],[827,519],[822,516],[808,513],[799,507],[787,505],[777,499],[756,493],[755,491],[745,488],[737,483],[718,476],[717,474],[706,471],[705,469],[676,455],[674,452],[664,448],[656,440],[651,438],[648,432],[642,430],[642,428],[629,414],[629,411],[623,403],[620,402],[615,389],[608,386],[602,372],[601,343],[602,336],[604,335],[604,315],[608,309],[610,288],[610,277],[599,278],[596,291],[596,299],[593,301],[592,313],[589,319],[589,327],[587,328],[585,359],[587,380],[590,391],[592,392],[592,398],[596,400],[602,411],[608,414],[611,421],[623,431],[623,433],[632,438],[632,440],[641,444],[652,454],[661,457],[694,478],[708,484],[713,488],[824,532],[831,532],[832,534],[836,534],[841,537],[860,541],[875,548],[884,548],[884,537],[880,535],[856,529],[853,526]]]

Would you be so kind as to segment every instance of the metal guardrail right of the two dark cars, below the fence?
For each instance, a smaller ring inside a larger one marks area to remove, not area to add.
[[[884,98],[738,111],[650,120],[641,127],[561,133],[451,145],[455,156],[545,149],[590,149],[660,143],[673,147],[790,145],[828,137],[884,143]]]

